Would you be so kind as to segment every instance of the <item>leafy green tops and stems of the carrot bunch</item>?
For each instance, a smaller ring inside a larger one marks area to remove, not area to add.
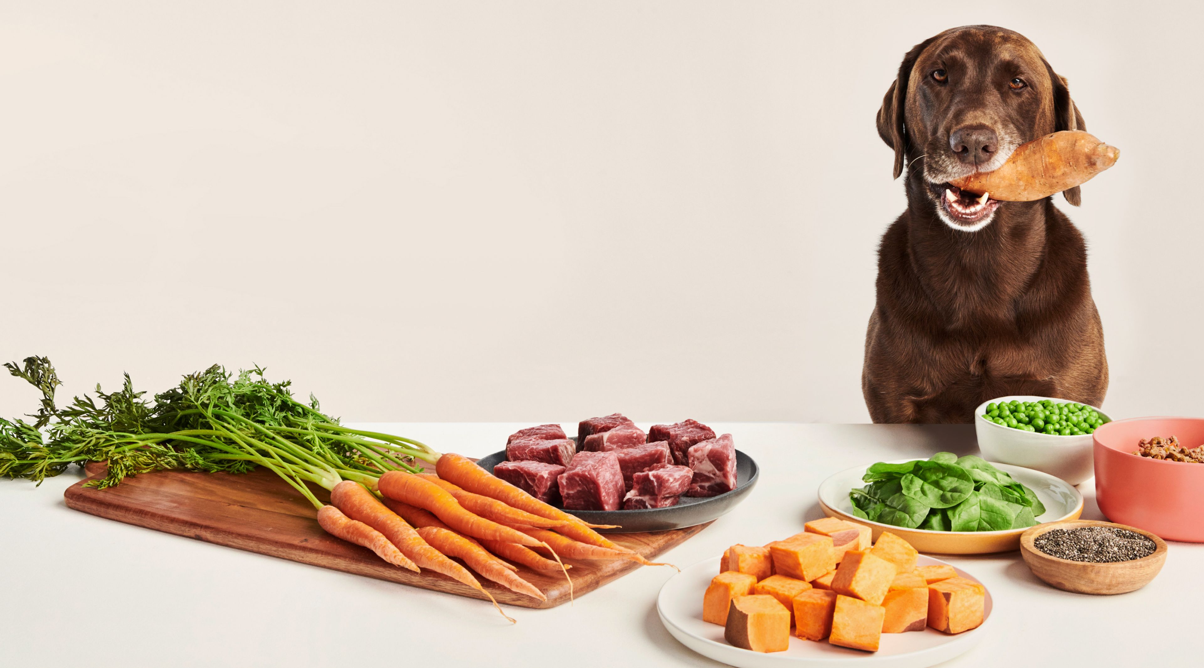
[[[254,367],[237,374],[220,366],[185,376],[179,385],[148,398],[129,374],[120,390],[95,398],[54,401],[58,373],[46,357],[4,365],[42,394],[40,408],[23,419],[0,418],[0,475],[41,483],[71,465],[107,461],[110,487],[126,475],[184,469],[244,473],[262,466],[321,503],[306,483],[332,489],[341,480],[374,484],[386,471],[421,471],[439,454],[400,436],[346,427],[293,397],[288,380],[272,383]]]

